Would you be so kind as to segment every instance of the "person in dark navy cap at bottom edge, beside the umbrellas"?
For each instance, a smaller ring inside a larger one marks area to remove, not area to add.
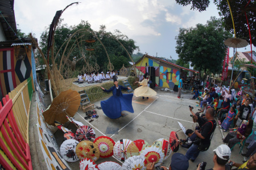
[[[180,153],[175,153],[172,155],[171,165],[169,170],[187,170],[189,167],[188,159]],[[167,170],[166,167],[162,166],[164,170]],[[147,164],[146,170],[153,170],[155,169],[155,163]]]

